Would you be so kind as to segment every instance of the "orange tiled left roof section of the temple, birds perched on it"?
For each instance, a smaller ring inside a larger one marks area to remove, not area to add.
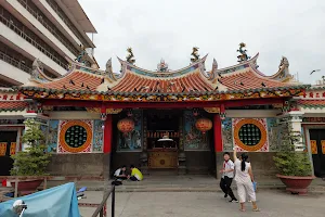
[[[102,81],[101,76],[83,72],[73,72],[65,77],[51,82],[38,84],[37,87],[58,90],[90,90],[95,91]]]

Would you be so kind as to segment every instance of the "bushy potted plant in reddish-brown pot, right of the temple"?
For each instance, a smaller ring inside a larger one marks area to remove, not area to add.
[[[308,152],[296,151],[295,144],[301,143],[301,133],[294,131],[288,123],[281,126],[281,145],[273,157],[280,174],[276,175],[291,193],[306,194],[315,178]]]

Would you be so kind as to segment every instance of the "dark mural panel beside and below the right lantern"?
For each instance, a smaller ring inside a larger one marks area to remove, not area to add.
[[[195,127],[196,117],[192,111],[184,111],[184,150],[207,151],[209,149],[209,131],[205,135]]]

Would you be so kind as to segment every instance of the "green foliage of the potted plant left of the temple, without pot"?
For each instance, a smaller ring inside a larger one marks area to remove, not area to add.
[[[17,152],[12,156],[14,167],[12,176],[44,176],[50,154],[46,153],[44,135],[40,124],[35,120],[26,120],[26,131],[22,141],[29,146],[24,152]]]

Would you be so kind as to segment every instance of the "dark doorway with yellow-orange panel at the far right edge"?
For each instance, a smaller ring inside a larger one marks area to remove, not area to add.
[[[309,133],[314,174],[325,178],[325,129],[310,129]]]

